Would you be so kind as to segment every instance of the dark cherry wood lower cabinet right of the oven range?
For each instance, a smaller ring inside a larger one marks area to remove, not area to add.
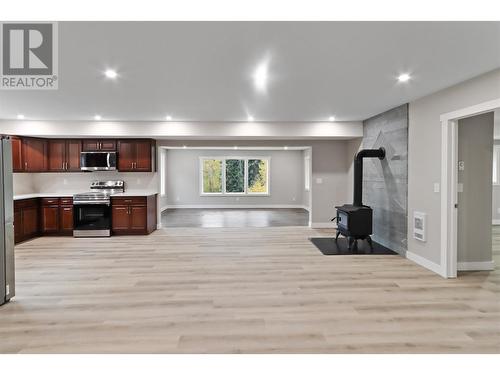
[[[113,234],[149,234],[156,229],[156,195],[111,198]]]

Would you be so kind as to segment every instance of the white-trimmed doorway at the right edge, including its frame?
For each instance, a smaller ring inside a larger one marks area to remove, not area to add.
[[[441,272],[494,269],[493,151],[500,99],[441,116]],[[497,233],[498,232],[498,233]]]

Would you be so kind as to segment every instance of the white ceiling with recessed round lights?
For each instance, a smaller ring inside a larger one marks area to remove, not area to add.
[[[498,67],[500,22],[61,22],[59,90],[0,91],[0,118],[363,120]]]

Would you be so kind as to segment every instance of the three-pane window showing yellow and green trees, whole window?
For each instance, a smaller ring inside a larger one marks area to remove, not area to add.
[[[268,195],[269,158],[200,158],[202,195]]]

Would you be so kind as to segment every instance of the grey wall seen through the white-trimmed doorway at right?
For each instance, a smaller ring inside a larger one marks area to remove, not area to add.
[[[493,112],[458,121],[458,262],[487,262],[491,251]]]

